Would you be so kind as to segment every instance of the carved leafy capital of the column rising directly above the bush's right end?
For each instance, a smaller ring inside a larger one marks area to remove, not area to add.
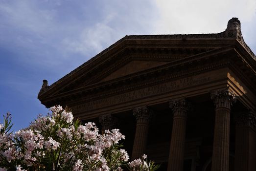
[[[153,110],[151,110],[147,106],[136,107],[133,109],[133,115],[135,116],[137,123],[149,122],[153,114]]]

